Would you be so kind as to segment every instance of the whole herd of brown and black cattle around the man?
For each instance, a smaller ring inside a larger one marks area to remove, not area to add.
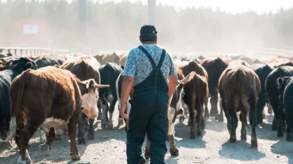
[[[113,112],[117,101],[120,107],[121,73],[126,57],[116,53],[38,57],[0,54],[0,132],[3,140],[14,139],[20,149],[17,163],[31,162],[27,146],[38,128],[43,151],[50,151],[52,142],[60,138],[62,131],[68,134],[73,160],[80,159],[75,143],[76,126],[78,144],[94,139],[96,118],[102,128],[113,129]],[[230,142],[236,142],[236,112],[240,112],[241,140],[246,140],[246,127],[251,126],[251,147],[257,148],[255,126],[262,124],[264,106],[268,105],[269,113],[274,113],[272,130],[283,137],[287,127],[287,140],[292,140],[292,61],[290,57],[263,62],[245,56],[174,57],[179,82],[168,110],[170,154],[179,155],[174,142],[176,117],[183,121],[188,113],[191,139],[202,135],[205,118],[224,121],[225,114]],[[132,96],[130,93],[128,100]],[[130,103],[127,112],[130,112]],[[128,120],[119,117],[119,124],[124,122],[127,131]],[[85,126],[89,126],[87,140]],[[144,152],[147,159],[151,158],[149,147],[147,140]]]

